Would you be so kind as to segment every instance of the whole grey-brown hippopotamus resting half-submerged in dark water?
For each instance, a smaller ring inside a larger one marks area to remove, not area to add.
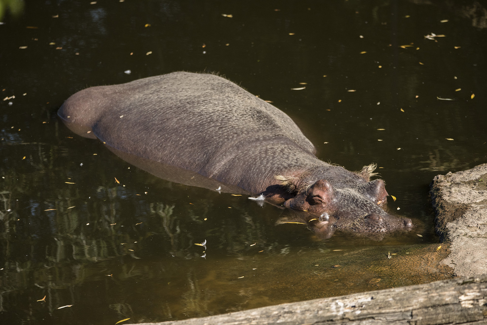
[[[371,180],[374,164],[351,172],[318,159],[288,115],[215,74],[173,72],[90,87],[57,114],[76,134],[156,175],[300,211],[322,237],[335,229],[412,228],[411,219],[384,210],[388,193],[383,180]]]

